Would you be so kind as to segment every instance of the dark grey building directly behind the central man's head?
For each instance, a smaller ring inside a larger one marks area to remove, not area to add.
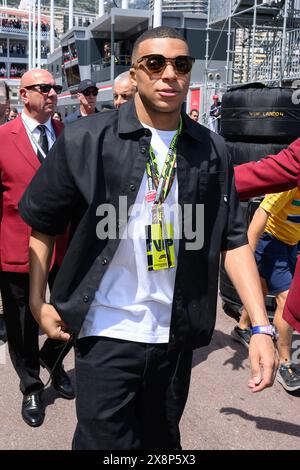
[[[97,18],[87,28],[74,27],[61,37],[60,48],[48,55],[48,70],[63,86],[58,99],[63,116],[78,108],[76,91],[80,81],[86,78],[96,82],[99,89],[97,107],[101,109],[103,105],[112,104],[113,81],[117,75],[129,70],[133,44],[138,36],[152,27],[152,21],[151,10],[112,8],[110,13]],[[189,44],[190,54],[196,59],[186,110],[196,108],[203,114],[206,15],[164,12],[162,24],[182,33]],[[221,89],[225,79],[226,34],[212,47],[215,53],[211,67],[216,72],[209,85],[211,94],[214,94],[217,88]]]

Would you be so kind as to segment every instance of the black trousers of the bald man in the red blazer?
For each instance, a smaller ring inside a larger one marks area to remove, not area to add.
[[[29,309],[29,275],[1,272],[0,281],[9,354],[20,378],[20,390],[28,395],[44,387],[39,358],[52,368],[66,343],[48,338],[39,351],[39,326]],[[60,364],[71,347],[66,346]]]

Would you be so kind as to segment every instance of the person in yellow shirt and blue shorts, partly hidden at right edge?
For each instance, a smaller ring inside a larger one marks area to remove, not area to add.
[[[270,293],[276,297],[274,325],[279,332],[277,349],[280,360],[276,378],[286,390],[298,390],[300,369],[291,362],[293,330],[282,318],[282,313],[296,266],[297,244],[300,240],[299,189],[268,194],[253,216],[248,239],[255,252],[264,295]],[[243,308],[239,324],[231,333],[232,337],[248,346],[250,326],[248,313]]]

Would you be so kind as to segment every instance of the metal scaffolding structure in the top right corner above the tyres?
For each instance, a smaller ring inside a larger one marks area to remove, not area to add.
[[[300,78],[299,0],[209,0],[206,82],[212,28],[227,30],[225,88],[252,81],[282,85]]]

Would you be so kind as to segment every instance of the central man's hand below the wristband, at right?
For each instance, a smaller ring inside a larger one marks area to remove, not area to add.
[[[251,379],[248,382],[252,392],[271,387],[275,380],[279,359],[271,336],[255,334],[249,346]]]

